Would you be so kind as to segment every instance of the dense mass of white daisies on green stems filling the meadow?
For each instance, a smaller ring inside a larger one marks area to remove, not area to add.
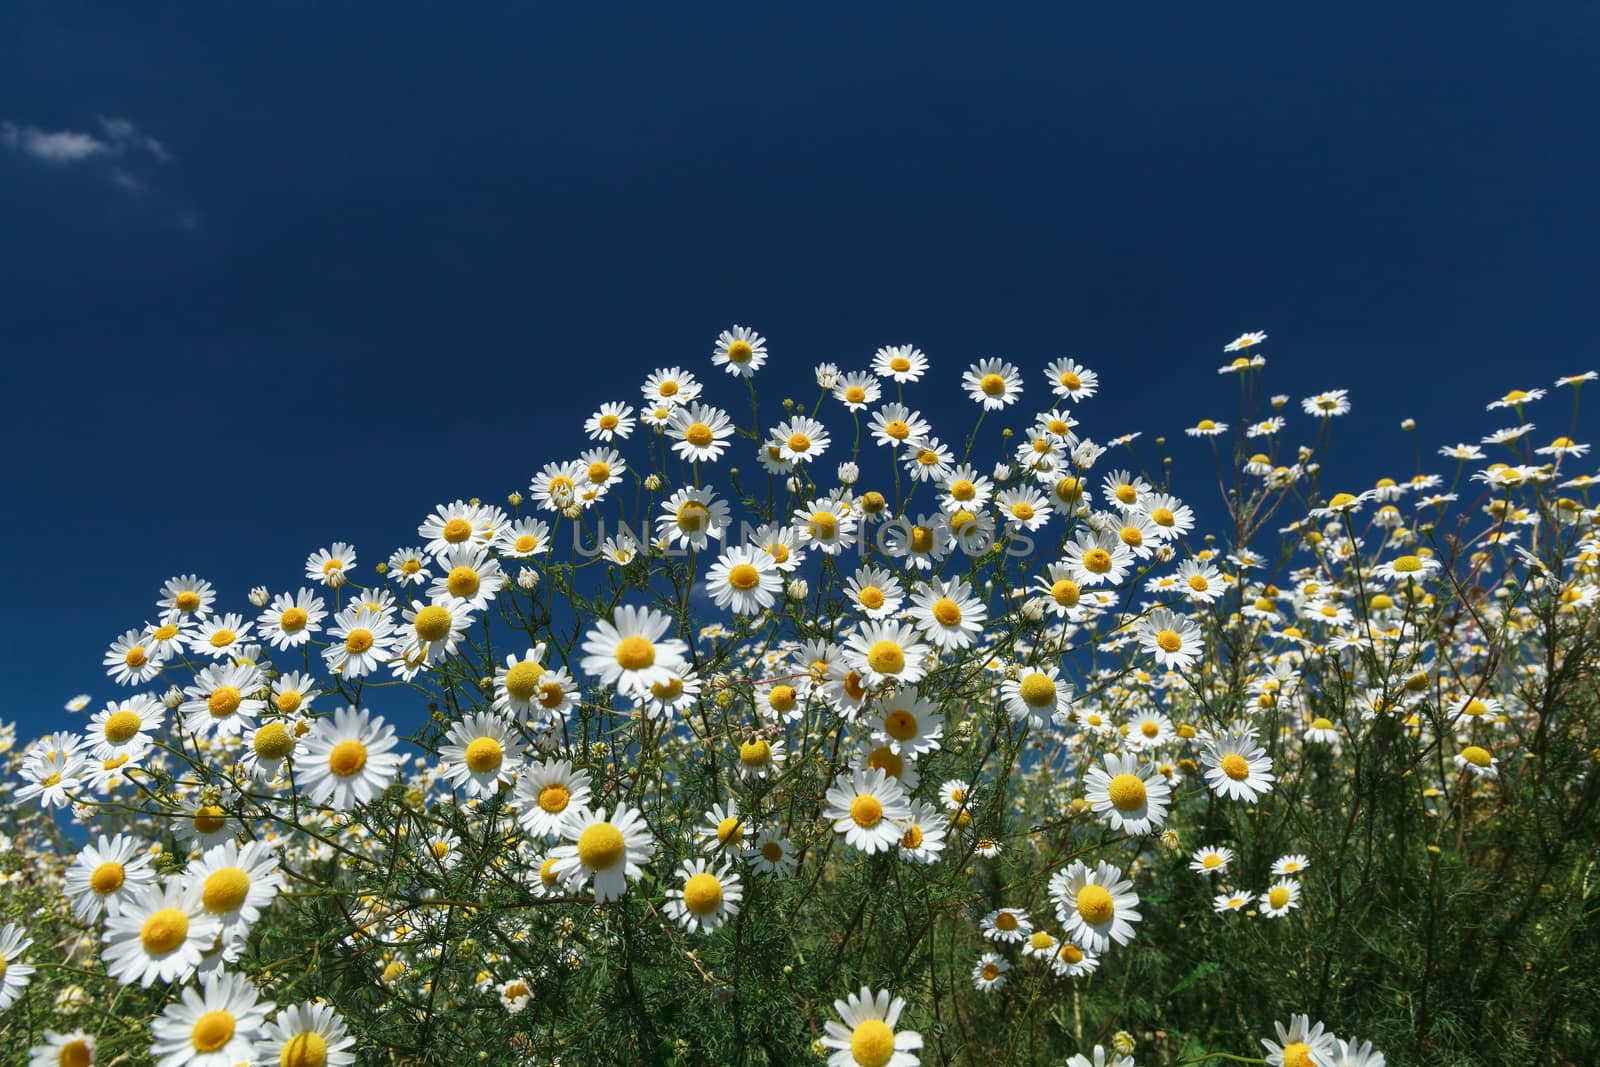
[[[173,577],[0,733],[6,1062],[1600,1062],[1594,374],[1325,490],[1264,341],[1189,501],[1074,360],[763,406],[734,326],[378,560]]]

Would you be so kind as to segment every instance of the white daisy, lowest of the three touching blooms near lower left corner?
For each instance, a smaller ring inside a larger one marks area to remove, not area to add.
[[[106,973],[123,985],[184,981],[211,950],[222,923],[179,878],[142,885],[106,918]]]

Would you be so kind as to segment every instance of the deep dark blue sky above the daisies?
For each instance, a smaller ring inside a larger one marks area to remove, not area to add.
[[[1477,440],[1600,365],[1594,5],[270,6],[0,10],[24,728],[112,694],[170,574],[370,565],[733,322],[806,368],[1077,355],[1101,435],[1229,414],[1269,330],[1272,390],[1352,390],[1357,485],[1402,416]]]

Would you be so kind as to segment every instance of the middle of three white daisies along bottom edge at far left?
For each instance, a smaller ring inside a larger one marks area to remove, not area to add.
[[[182,990],[150,1021],[157,1067],[232,1067],[256,1061],[274,1005],[243,974],[211,974],[202,989]]]

